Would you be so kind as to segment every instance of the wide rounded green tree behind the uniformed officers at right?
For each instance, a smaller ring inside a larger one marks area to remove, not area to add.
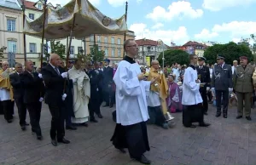
[[[249,61],[253,60],[253,54],[247,44],[236,44],[233,42],[226,44],[215,44],[212,47],[208,47],[204,52],[204,57],[207,59],[207,63],[216,63],[217,55],[224,56],[227,64],[232,64],[233,60],[239,60],[240,56],[247,56]]]

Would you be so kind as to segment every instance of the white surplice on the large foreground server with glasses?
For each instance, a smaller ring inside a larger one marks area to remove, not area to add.
[[[137,75],[141,73],[140,65],[122,60],[113,77],[117,123],[123,126],[148,121],[146,91],[149,92],[150,82],[139,81]]]

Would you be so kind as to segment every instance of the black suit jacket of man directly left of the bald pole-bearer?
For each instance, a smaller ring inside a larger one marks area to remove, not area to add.
[[[43,79],[38,77],[37,72],[24,71],[20,74],[20,81],[24,88],[23,101],[25,104],[37,103],[41,97],[44,98]]]

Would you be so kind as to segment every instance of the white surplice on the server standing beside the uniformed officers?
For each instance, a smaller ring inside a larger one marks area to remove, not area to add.
[[[197,71],[188,67],[183,79],[183,105],[197,105],[202,102],[199,92],[200,83],[195,83],[195,80],[197,80]]]

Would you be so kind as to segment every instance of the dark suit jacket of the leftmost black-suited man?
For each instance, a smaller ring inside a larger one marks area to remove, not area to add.
[[[15,72],[14,74],[11,74],[9,76],[10,83],[14,89],[14,99],[20,99],[22,98],[24,94],[24,88],[20,81],[20,75]]]

